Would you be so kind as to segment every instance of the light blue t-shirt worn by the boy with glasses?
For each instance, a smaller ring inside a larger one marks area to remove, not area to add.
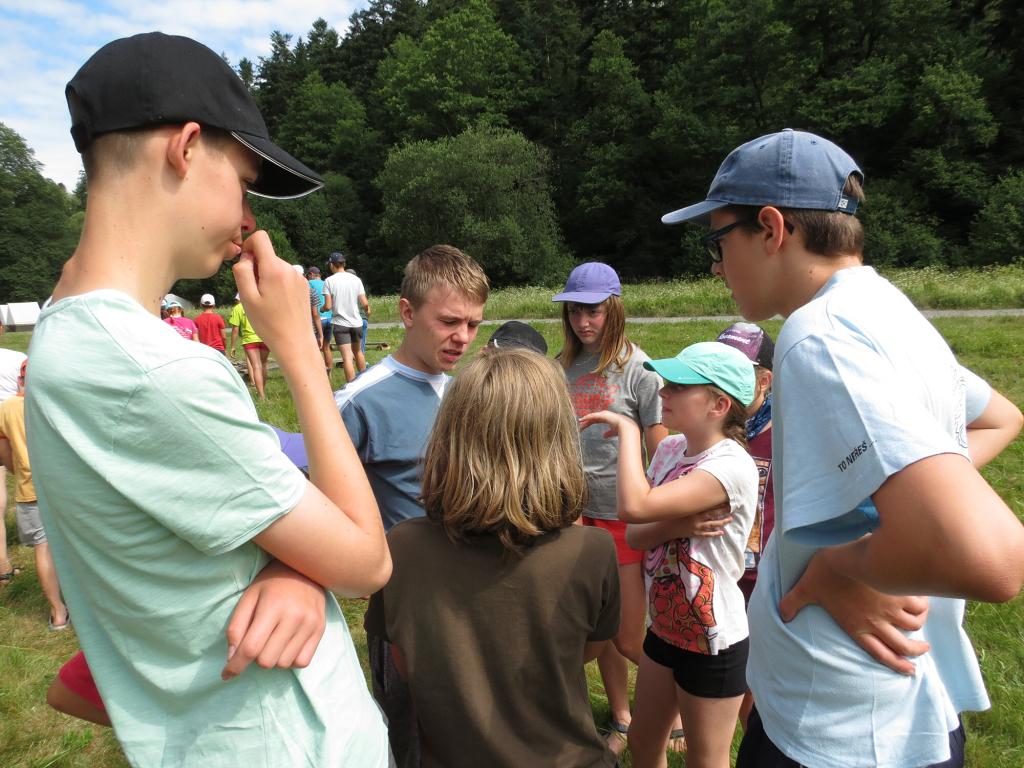
[[[957,712],[988,706],[963,600],[931,598],[915,636],[933,650],[912,677],[873,660],[820,607],[783,624],[777,606],[820,548],[874,528],[870,496],[890,475],[967,455],[966,399],[983,398],[938,332],[870,267],[837,272],[790,315],[774,371],[775,532],[751,599],[746,668],[765,731],[809,766],[947,760]]]

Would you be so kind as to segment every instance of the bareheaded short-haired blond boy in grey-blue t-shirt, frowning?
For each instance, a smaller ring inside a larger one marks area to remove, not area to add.
[[[387,530],[424,514],[420,462],[450,381],[447,372],[476,338],[488,291],[483,269],[458,248],[432,246],[417,255],[401,281],[401,344],[335,395]],[[368,632],[367,646],[374,695],[388,718],[395,760],[399,768],[418,766],[409,689],[386,641]]]

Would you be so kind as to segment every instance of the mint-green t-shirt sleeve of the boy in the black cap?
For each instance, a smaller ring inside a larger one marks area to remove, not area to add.
[[[299,503],[305,477],[225,364],[186,357],[141,376],[98,467],[136,508],[213,555]]]

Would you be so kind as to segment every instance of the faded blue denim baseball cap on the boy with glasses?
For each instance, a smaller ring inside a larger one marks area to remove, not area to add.
[[[857,201],[843,195],[851,173],[864,172],[826,138],[785,128],[737,146],[711,182],[708,199],[662,217],[665,224],[707,219],[728,205],[778,206],[854,213]]]

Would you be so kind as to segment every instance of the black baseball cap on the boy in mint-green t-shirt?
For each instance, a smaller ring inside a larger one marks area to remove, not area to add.
[[[234,71],[186,37],[147,32],[97,50],[65,89],[75,148],[96,136],[195,121],[229,132],[263,158],[250,191],[301,198],[324,179],[270,140],[259,108]]]

